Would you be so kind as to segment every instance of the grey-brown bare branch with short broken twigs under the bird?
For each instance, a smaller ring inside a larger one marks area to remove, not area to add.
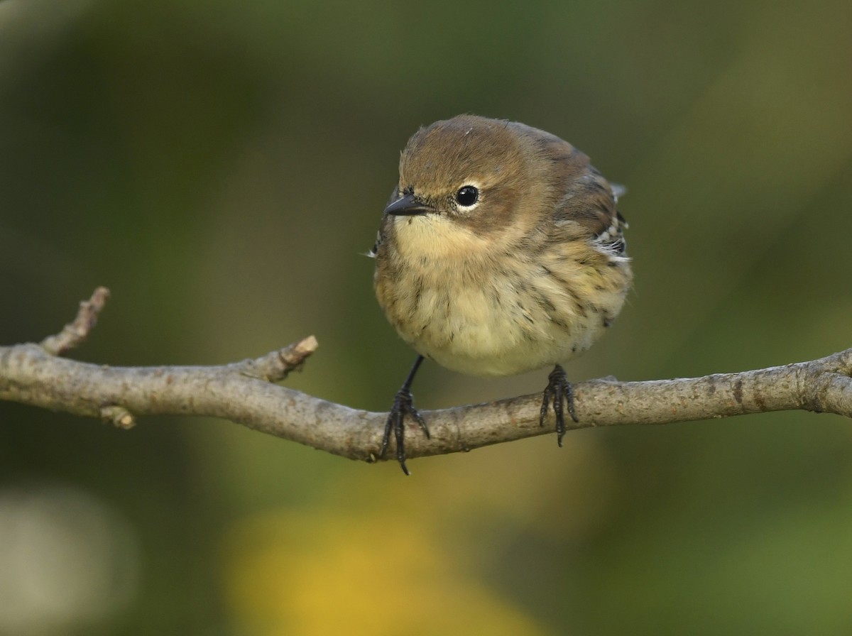
[[[314,336],[261,358],[222,366],[111,367],[59,358],[82,342],[109,292],[98,288],[77,318],[40,345],[0,347],[0,399],[132,427],[139,415],[206,415],[355,460],[376,461],[385,413],[354,410],[272,384],[298,369]],[[569,428],[668,424],[776,410],[852,417],[852,349],[810,362],[700,378],[578,382],[579,423]],[[409,457],[442,455],[552,433],[538,426],[537,394],[423,411],[431,439],[412,427]],[[392,449],[393,450],[393,449]],[[389,457],[394,457],[389,452]]]

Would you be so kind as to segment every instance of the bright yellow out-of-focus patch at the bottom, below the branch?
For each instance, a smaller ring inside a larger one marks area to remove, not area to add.
[[[429,528],[388,513],[252,516],[227,534],[223,556],[237,633],[549,633],[459,571]]]

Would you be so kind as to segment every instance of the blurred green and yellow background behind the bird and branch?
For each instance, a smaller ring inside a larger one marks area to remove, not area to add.
[[[0,2],[0,342],[95,286],[73,357],[219,364],[387,410],[398,152],[459,112],[629,195],[636,289],[576,379],[852,346],[852,5]],[[427,364],[424,409],[535,392]],[[225,421],[0,404],[3,634],[848,634],[852,423],[584,430],[370,466]]]

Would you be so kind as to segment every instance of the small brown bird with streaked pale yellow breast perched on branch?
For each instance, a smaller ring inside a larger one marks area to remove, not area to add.
[[[559,445],[564,406],[577,421],[559,363],[591,347],[619,314],[632,273],[611,186],[567,141],[523,123],[460,115],[419,129],[371,255],[379,304],[419,354],[394,398],[381,456],[396,438],[408,474],[405,418],[423,358],[470,375],[555,365]]]

